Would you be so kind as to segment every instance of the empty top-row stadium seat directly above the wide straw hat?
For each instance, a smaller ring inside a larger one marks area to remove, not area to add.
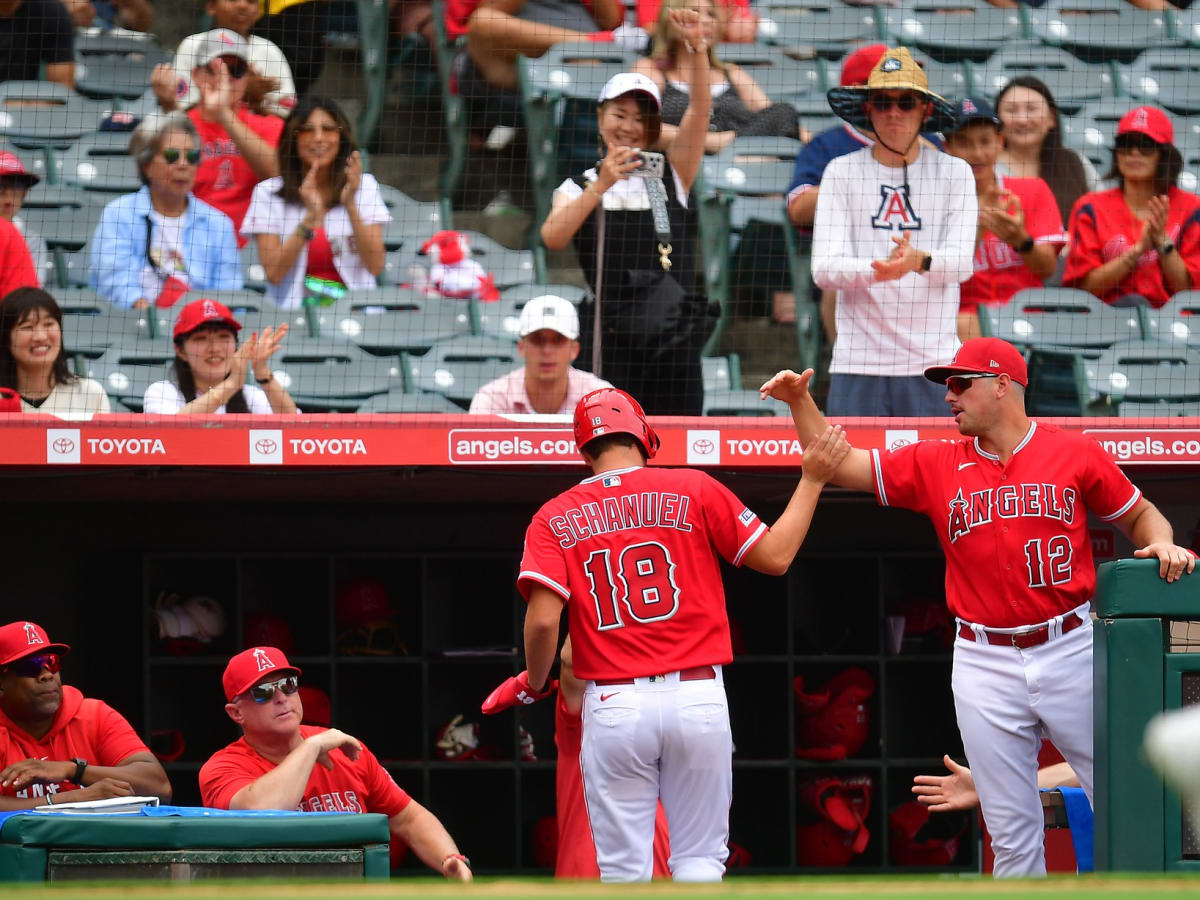
[[[1031,36],[1027,8],[1000,8],[974,0],[906,0],[880,7],[888,46],[918,47],[936,59],[984,60],[1010,41]]]

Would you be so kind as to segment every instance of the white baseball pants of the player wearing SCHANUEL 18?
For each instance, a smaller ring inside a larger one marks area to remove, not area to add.
[[[600,880],[649,881],[661,797],[676,881],[720,881],[728,856],[733,738],[721,667],[715,678],[678,672],[588,682],[580,768]]]

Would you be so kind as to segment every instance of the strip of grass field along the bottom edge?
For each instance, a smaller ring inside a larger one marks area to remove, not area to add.
[[[550,878],[481,878],[470,886],[445,881],[404,878],[389,883],[364,882],[200,882],[167,884],[162,882],[106,882],[72,886],[10,884],[0,886],[0,900],[108,900],[127,898],[140,900],[169,896],[179,900],[276,900],[282,898],[421,898],[421,900],[451,900],[456,898],[533,898],[534,900],[658,900],[659,898],[920,898],[954,900],[956,898],[986,898],[986,900],[1025,900],[1030,896],[1200,896],[1200,878],[1172,875],[1114,875],[1063,876],[1036,882],[992,881],[978,876],[913,876],[913,877],[738,877],[724,884],[638,884],[617,886],[600,883],[565,883]]]

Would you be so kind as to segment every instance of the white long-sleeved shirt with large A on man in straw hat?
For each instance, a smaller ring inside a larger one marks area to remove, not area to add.
[[[812,226],[812,277],[840,292],[829,371],[919,376],[958,349],[959,283],[974,272],[978,204],[962,160],[923,148],[905,170],[877,162],[871,148],[832,160],[821,179]],[[930,270],[876,281],[907,234],[932,254]]]

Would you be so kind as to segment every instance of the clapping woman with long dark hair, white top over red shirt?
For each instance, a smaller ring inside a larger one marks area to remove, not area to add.
[[[391,215],[362,173],[346,114],[325,97],[301,97],[278,154],[280,176],[254,188],[241,226],[258,242],[266,295],[290,310],[374,288]]]

